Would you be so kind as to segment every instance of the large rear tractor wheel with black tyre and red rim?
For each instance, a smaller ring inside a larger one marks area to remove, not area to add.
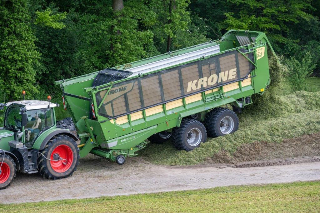
[[[42,177],[61,179],[72,176],[77,170],[80,158],[79,148],[76,141],[69,136],[54,136],[40,153],[42,154],[38,156],[38,171]],[[51,161],[60,157],[66,160]]]

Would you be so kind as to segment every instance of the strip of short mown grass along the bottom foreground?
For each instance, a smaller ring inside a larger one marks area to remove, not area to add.
[[[0,205],[0,212],[182,211],[319,212],[320,182],[229,186],[181,192]]]

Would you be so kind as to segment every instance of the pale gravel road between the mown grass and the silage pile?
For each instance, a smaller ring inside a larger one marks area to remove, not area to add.
[[[48,180],[37,174],[18,174],[1,190],[0,203],[53,201],[74,198],[153,193],[227,185],[311,181],[320,179],[320,157],[276,161],[257,167],[245,164],[209,164],[188,167],[154,165],[142,158],[128,158],[122,166],[88,155],[72,177]],[[285,165],[282,165],[285,164]],[[245,168],[242,168],[245,167]]]

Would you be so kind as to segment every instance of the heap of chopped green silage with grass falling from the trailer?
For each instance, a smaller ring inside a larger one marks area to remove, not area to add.
[[[236,152],[243,144],[255,141],[281,143],[285,138],[320,132],[320,92],[286,93],[283,76],[286,67],[270,59],[270,88],[263,96],[255,95],[253,104],[239,115],[239,130],[232,135],[208,138],[192,152],[176,150],[171,141],[150,144],[140,152],[146,160],[166,165],[205,163],[220,150]]]

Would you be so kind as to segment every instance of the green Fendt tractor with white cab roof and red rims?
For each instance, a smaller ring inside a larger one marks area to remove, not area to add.
[[[58,128],[56,106],[38,100],[0,104],[0,109],[6,107],[0,129],[0,189],[10,185],[17,171],[60,179],[76,170],[78,138],[68,129]]]

